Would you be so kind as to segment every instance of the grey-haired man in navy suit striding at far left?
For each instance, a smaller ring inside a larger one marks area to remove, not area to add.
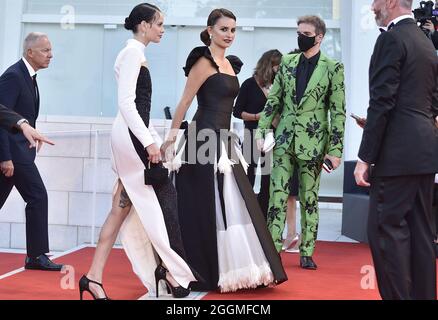
[[[24,41],[23,58],[0,76],[0,104],[21,114],[32,127],[38,117],[40,95],[36,72],[49,66],[52,48],[42,33]],[[49,252],[47,191],[34,163],[36,151],[21,133],[0,129],[0,209],[15,186],[26,202],[26,269],[59,271]]]

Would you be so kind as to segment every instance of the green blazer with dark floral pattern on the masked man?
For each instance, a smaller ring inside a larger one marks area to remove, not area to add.
[[[295,82],[300,56],[290,54],[283,57],[261,115],[256,138],[264,138],[273,119],[280,114],[280,123],[275,130],[277,154],[293,148],[294,154],[301,160],[321,161],[326,154],[342,158],[344,66],[321,53],[303,98],[297,104]]]

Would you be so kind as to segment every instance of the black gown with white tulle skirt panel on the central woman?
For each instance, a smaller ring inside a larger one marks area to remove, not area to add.
[[[199,107],[181,152],[188,163],[176,175],[184,247],[188,263],[200,274],[192,289],[227,292],[281,283],[287,276],[246,177],[243,156],[235,148],[236,137],[229,132],[238,79],[219,72],[207,47],[190,53],[186,76],[201,57],[207,58],[217,73],[197,93]],[[234,56],[227,58],[237,74],[242,62]],[[214,139],[209,135],[207,143],[197,141],[203,140],[199,137],[203,129],[210,129],[208,133],[220,141],[206,152],[205,145]],[[198,157],[190,159],[203,153],[212,161],[204,164]]]

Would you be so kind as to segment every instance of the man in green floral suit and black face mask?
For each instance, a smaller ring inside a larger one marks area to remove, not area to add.
[[[312,256],[318,233],[322,164],[329,159],[334,169],[339,167],[345,127],[344,67],[320,52],[325,33],[325,23],[319,17],[299,18],[298,44],[302,54],[283,58],[256,133],[262,150],[274,118],[280,116],[275,130],[268,227],[281,251],[289,181],[298,170],[300,266],[311,270],[317,268]]]

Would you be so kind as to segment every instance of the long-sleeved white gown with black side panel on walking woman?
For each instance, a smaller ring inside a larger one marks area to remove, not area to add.
[[[134,272],[149,294],[154,295],[154,270],[159,258],[183,287],[196,279],[183,259],[172,183],[169,180],[155,190],[144,184],[145,147],[154,142],[161,145],[149,124],[152,84],[144,50],[143,43],[131,39],[115,62],[119,112],[112,127],[111,150],[113,169],[118,176],[114,190],[121,182],[132,202],[120,239]]]

